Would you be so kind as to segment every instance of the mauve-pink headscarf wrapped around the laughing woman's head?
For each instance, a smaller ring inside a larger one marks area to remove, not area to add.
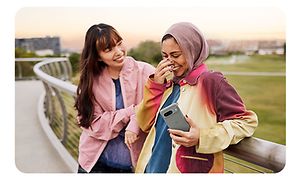
[[[167,34],[175,38],[187,60],[189,69],[184,76],[199,67],[208,57],[208,44],[201,31],[192,23],[173,24],[165,33]]]

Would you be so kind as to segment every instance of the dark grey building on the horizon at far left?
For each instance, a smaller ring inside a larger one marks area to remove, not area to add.
[[[15,47],[23,48],[42,56],[61,53],[59,37],[15,39]]]

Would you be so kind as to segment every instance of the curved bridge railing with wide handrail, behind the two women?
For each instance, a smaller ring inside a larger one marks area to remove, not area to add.
[[[76,168],[78,141],[81,129],[77,126],[74,102],[77,86],[70,80],[72,69],[66,58],[43,60],[34,66],[34,72],[45,87],[40,106],[43,121],[51,127],[57,141],[54,146],[71,167]],[[63,150],[62,150],[63,149]],[[225,152],[225,172],[228,173],[272,173],[285,166],[285,146],[250,137]],[[66,158],[67,157],[67,158]]]

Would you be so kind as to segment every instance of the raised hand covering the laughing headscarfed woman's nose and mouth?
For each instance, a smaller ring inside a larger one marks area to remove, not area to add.
[[[154,73],[154,82],[163,84],[173,69],[173,63],[169,59],[163,59],[159,62]]]

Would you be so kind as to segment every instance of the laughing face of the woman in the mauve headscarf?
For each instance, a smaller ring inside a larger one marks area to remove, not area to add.
[[[189,66],[182,50],[173,37],[163,40],[161,53],[163,59],[168,59],[173,63],[174,76],[181,77],[187,72]]]

